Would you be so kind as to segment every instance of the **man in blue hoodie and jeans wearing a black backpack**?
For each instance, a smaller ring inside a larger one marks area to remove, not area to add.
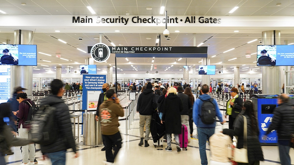
[[[197,126],[199,152],[201,164],[207,165],[206,141],[214,134],[216,127],[216,116],[221,124],[225,123],[218,108],[218,103],[209,95],[209,86],[204,84],[201,87],[201,95],[193,105],[193,121]]]

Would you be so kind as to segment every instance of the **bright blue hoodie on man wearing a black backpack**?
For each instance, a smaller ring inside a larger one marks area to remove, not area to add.
[[[204,101],[209,100],[211,98],[210,95],[208,95],[208,94],[199,95],[199,98],[195,101],[195,103],[193,105],[193,121],[194,121],[194,123],[199,128],[214,128],[214,127],[216,127],[216,122],[214,122],[212,124],[204,124],[201,120],[201,117],[199,116],[199,115],[201,115],[201,109],[202,109],[202,104],[203,104],[202,100],[204,100]],[[216,116],[218,117],[220,122],[223,122],[223,117],[220,113],[220,109],[218,108],[218,103],[216,102],[215,99],[213,99],[213,104],[216,107]]]

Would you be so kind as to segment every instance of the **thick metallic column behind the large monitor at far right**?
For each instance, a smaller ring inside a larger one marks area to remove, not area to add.
[[[262,45],[280,45],[280,31],[263,31]],[[260,52],[257,52],[260,54]],[[280,94],[281,83],[280,66],[262,66],[262,93],[263,94]]]

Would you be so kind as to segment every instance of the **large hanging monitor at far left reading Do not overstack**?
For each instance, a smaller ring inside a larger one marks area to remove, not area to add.
[[[37,45],[0,45],[0,65],[37,65]]]

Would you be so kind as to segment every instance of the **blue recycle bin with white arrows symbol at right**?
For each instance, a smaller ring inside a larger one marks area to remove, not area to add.
[[[277,145],[277,131],[271,131],[267,137],[264,137],[272,119],[273,110],[277,107],[278,95],[253,94],[252,102],[255,106],[255,115],[258,119],[259,141],[262,145]]]

